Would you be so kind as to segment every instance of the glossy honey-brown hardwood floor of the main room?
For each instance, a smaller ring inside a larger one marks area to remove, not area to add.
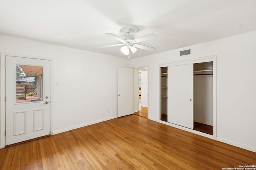
[[[221,170],[256,152],[128,115],[0,149],[1,170]]]

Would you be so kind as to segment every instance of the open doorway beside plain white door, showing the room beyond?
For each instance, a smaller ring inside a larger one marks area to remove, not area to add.
[[[136,106],[138,111],[135,111],[135,115],[148,118],[148,67],[138,68],[138,74],[134,74],[138,81],[135,81],[135,87],[138,89],[136,98]],[[136,90],[137,91],[137,90]]]

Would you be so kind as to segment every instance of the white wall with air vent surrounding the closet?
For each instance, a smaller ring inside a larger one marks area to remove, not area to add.
[[[132,59],[148,65],[148,118],[159,121],[159,64],[216,55],[216,139],[256,152],[256,31]],[[179,51],[191,49],[191,55]]]

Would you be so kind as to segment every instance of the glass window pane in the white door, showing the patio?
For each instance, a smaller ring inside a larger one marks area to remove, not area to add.
[[[42,66],[16,64],[16,103],[42,101]]]

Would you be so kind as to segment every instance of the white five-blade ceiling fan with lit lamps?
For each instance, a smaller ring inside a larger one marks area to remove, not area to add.
[[[134,25],[125,25],[124,27],[122,27],[120,29],[120,33],[125,34],[126,35],[125,37],[120,38],[117,35],[114,35],[113,33],[105,33],[106,35],[109,35],[109,36],[113,37],[114,39],[117,39],[122,44],[106,45],[106,46],[102,46],[100,48],[124,45],[124,47],[122,47],[120,50],[125,55],[129,55],[130,51],[132,51],[132,53],[135,53],[137,51],[137,48],[148,50],[148,51],[153,51],[155,48],[148,47],[146,45],[141,45],[141,44],[138,44],[138,43],[140,43],[142,41],[147,41],[147,40],[150,40],[150,39],[154,39],[154,38],[157,37],[157,35],[152,33],[152,34],[145,35],[143,37],[136,38],[136,39],[134,37],[130,36],[130,35],[132,35],[136,32],[138,32],[138,28],[136,26],[134,26]]]

